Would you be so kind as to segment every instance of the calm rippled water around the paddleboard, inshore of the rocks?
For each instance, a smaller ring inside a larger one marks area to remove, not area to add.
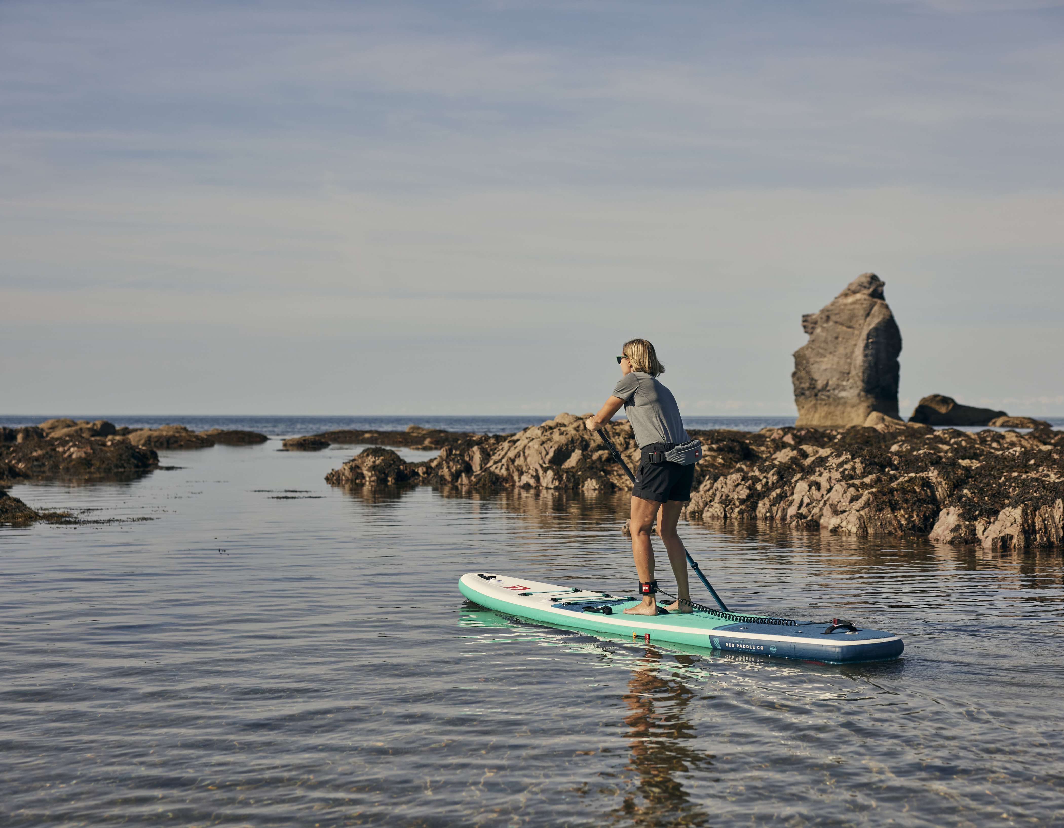
[[[0,528],[0,824],[1064,822],[1059,555],[682,525],[729,604],[905,654],[636,646],[455,585],[631,591],[624,497],[364,496],[322,480],[350,447],[277,449],[12,490],[99,522]]]

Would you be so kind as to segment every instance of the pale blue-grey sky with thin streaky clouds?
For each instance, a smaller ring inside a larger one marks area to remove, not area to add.
[[[0,3],[0,412],[1064,415],[1064,0]]]

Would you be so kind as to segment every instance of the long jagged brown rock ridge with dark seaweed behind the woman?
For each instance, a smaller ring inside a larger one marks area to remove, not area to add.
[[[587,432],[563,413],[515,435],[472,436],[432,460],[405,463],[367,450],[326,478],[344,486],[428,483],[466,490],[625,492],[631,484]],[[694,430],[688,520],[761,521],[846,535],[930,536],[993,550],[1062,545],[1064,433],[935,430],[877,415],[846,429]],[[633,468],[626,422],[609,426]]]

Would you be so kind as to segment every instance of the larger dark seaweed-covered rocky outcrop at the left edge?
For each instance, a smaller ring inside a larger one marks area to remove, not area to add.
[[[67,432],[56,428],[54,433]],[[127,438],[64,434],[37,437],[19,429],[21,441],[0,443],[0,483],[27,479],[129,479],[159,466],[151,449]]]

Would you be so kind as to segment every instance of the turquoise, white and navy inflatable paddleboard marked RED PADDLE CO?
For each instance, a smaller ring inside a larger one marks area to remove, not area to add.
[[[624,610],[638,604],[638,598],[506,575],[468,572],[459,579],[459,589],[488,609],[563,627],[634,636],[641,641],[832,662],[897,658],[904,649],[901,639],[891,632],[846,627],[827,632],[833,625],[822,621],[780,623],[771,619],[777,623],[759,623],[755,619],[770,619],[744,615],[744,621],[735,622],[702,611],[626,615]]]

